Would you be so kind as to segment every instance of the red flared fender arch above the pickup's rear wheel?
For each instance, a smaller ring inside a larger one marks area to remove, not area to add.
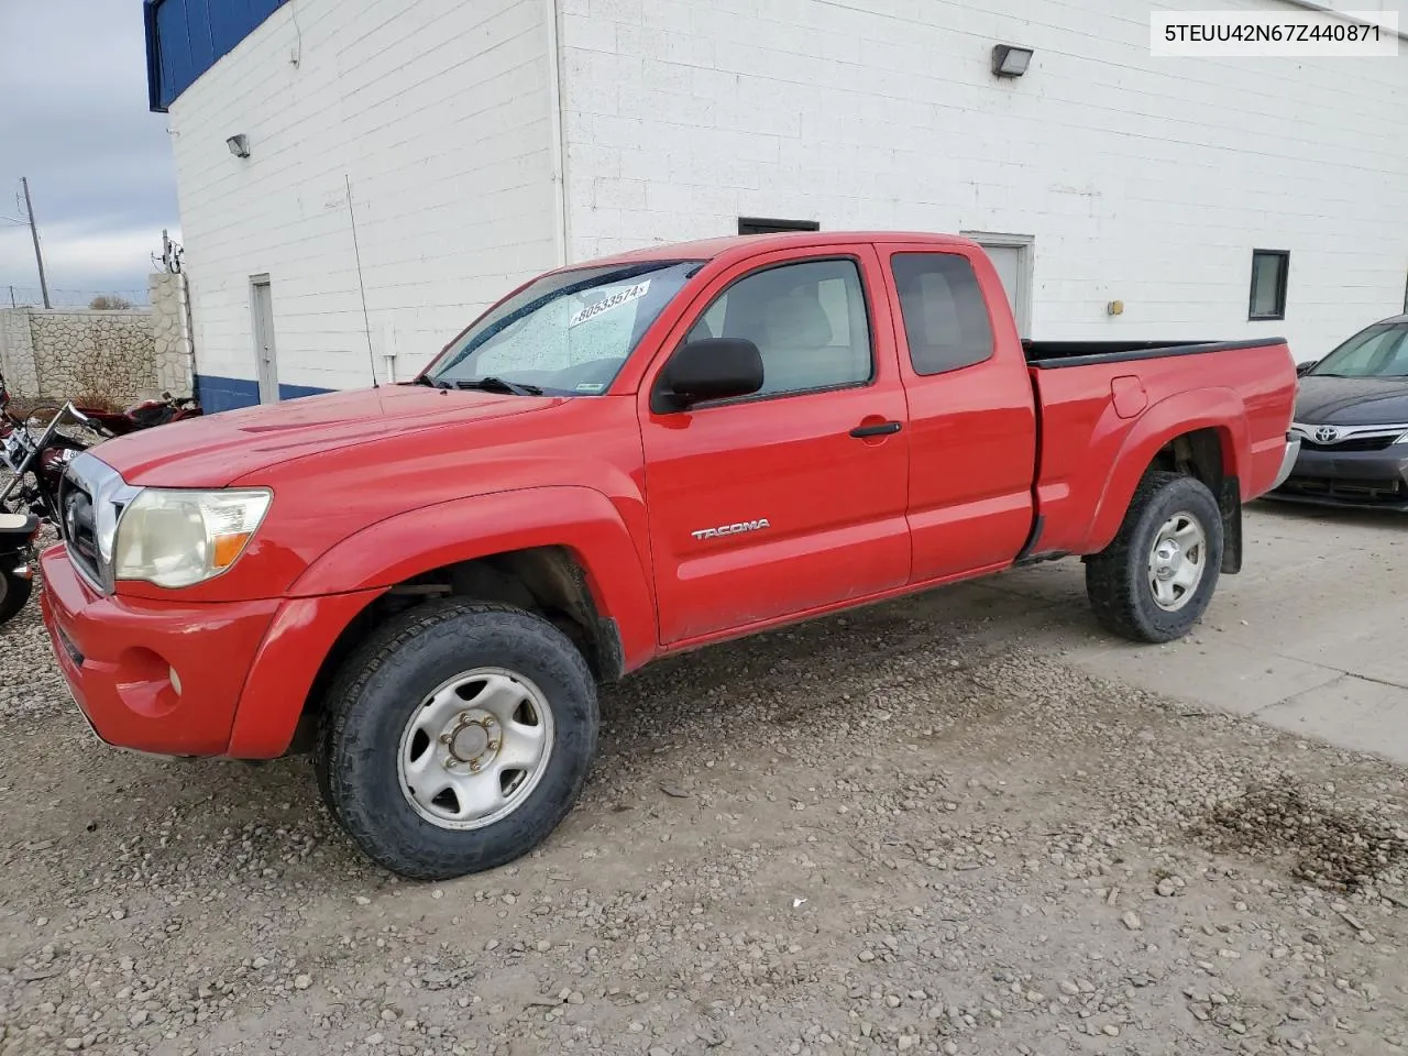
[[[1169,441],[1194,429],[1215,429],[1222,472],[1245,479],[1250,449],[1246,404],[1232,389],[1194,389],[1160,400],[1135,420],[1105,479],[1083,553],[1105,549],[1119,531],[1139,480]]]

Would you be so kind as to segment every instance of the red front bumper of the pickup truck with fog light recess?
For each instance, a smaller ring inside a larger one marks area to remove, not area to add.
[[[322,660],[380,590],[187,604],[97,593],[62,545],[39,558],[54,655],[93,732],[182,756],[270,759]]]

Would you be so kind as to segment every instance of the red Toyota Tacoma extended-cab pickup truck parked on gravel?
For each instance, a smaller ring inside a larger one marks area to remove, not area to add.
[[[553,829],[597,683],[659,656],[1064,555],[1112,632],[1184,635],[1294,391],[1281,339],[1024,346],[960,238],[662,245],[414,382],[80,455],[44,618],[104,741],[311,750],[367,855],[451,877]]]

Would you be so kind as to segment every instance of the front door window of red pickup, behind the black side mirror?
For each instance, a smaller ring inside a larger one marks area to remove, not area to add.
[[[807,260],[739,279],[689,334],[746,338],[763,359],[759,396],[863,384],[874,373],[870,320],[855,260]]]

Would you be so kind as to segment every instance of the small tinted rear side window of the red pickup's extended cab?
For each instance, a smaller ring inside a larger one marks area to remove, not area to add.
[[[890,258],[917,375],[941,375],[993,356],[993,322],[977,273],[957,253]]]

